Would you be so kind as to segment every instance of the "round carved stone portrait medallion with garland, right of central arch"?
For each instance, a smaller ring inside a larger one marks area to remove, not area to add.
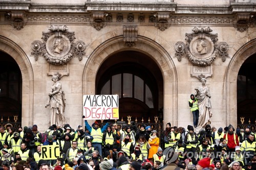
[[[216,56],[222,58],[224,62],[228,57],[228,44],[218,41],[218,34],[210,34],[212,30],[209,27],[195,27],[194,33],[186,33],[186,44],[177,42],[175,44],[175,57],[178,61],[187,57],[193,65],[208,66],[216,59]]]

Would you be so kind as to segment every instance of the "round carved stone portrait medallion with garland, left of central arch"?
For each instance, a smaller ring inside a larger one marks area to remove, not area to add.
[[[49,30],[50,32],[42,32],[44,42],[35,40],[31,44],[31,55],[36,61],[40,55],[54,65],[67,64],[73,56],[82,60],[86,44],[82,41],[74,42],[74,32],[68,32],[67,26],[51,26]]]

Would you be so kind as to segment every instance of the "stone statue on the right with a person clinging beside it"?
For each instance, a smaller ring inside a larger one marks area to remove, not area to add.
[[[202,86],[195,88],[195,96],[198,99],[199,107],[199,120],[198,127],[204,128],[206,125],[210,124],[211,113],[211,103],[210,103],[210,91],[209,88],[205,85],[206,79],[201,79]]]

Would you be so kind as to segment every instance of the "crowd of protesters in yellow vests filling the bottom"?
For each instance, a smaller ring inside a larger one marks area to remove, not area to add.
[[[249,127],[217,130],[207,125],[197,134],[193,126],[167,123],[159,138],[143,124],[119,129],[117,124],[100,127],[83,119],[85,127],[52,125],[44,133],[36,125],[0,127],[0,170],[256,169],[255,134]],[[43,145],[59,146],[60,157],[42,159]]]

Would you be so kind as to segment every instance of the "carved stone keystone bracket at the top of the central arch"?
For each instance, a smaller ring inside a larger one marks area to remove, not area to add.
[[[132,47],[137,42],[138,27],[123,26],[123,44]]]

